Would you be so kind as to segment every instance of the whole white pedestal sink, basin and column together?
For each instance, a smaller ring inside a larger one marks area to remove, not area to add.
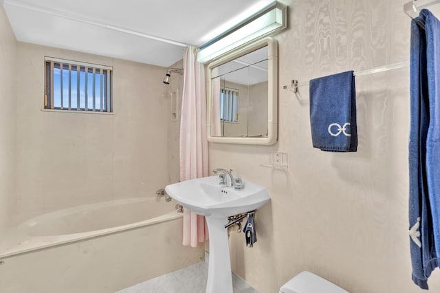
[[[168,185],[166,192],[181,205],[206,217],[209,231],[209,265],[206,293],[232,293],[228,243],[228,216],[258,209],[270,200],[265,187],[244,181],[245,188],[219,185],[210,176]]]

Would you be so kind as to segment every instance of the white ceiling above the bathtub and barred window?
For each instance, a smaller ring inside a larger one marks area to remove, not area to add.
[[[273,0],[1,2],[19,41],[169,67]]]

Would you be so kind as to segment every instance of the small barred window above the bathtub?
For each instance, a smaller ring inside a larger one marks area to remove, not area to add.
[[[113,67],[45,57],[44,108],[113,112]]]

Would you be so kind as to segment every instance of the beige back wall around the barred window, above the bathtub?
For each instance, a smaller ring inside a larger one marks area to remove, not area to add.
[[[114,115],[43,111],[44,56],[113,66]],[[18,43],[17,215],[168,184],[166,69]]]

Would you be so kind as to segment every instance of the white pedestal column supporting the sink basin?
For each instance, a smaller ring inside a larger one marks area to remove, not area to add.
[[[206,217],[209,231],[209,263],[206,293],[232,293],[232,272],[229,253],[228,218]]]

